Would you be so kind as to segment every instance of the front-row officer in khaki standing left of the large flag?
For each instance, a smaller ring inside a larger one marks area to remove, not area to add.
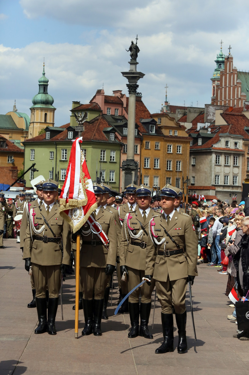
[[[70,265],[70,225],[59,213],[55,203],[58,183],[48,179],[43,183],[44,203],[30,210],[27,226],[23,259],[28,271],[32,265],[36,288],[36,308],[39,326],[36,334],[48,332],[56,335],[55,317],[58,308],[61,287],[61,265]],[[63,245],[62,245],[63,244]],[[63,248],[62,248],[63,246]],[[62,256],[63,250],[63,256]],[[48,308],[46,307],[46,289],[49,291]]]

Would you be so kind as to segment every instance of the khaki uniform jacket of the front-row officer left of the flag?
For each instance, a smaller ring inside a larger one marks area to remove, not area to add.
[[[48,216],[44,204],[39,207],[34,207],[33,210],[35,213],[34,224],[39,225],[39,229],[36,227],[37,231],[39,231],[43,225],[44,230],[41,233],[34,233],[33,228],[31,228],[30,232],[30,225],[27,226],[24,239],[23,258],[31,258],[31,263],[39,264],[41,266],[56,266],[61,263],[67,264],[69,266],[71,252],[71,227],[66,222],[66,220],[61,217],[59,213],[59,205],[55,203],[52,206]],[[53,237],[53,234],[47,224],[44,222],[41,213],[49,223],[49,226],[51,227],[55,236],[62,237],[63,257],[60,248],[61,242],[58,241],[44,243],[43,241],[35,239],[34,236],[38,236],[41,238],[43,236],[47,236],[50,238]],[[30,215],[29,220],[33,220],[33,216]],[[33,243],[31,235],[33,238]]]

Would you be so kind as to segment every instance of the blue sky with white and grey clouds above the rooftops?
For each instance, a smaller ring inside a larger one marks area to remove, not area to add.
[[[248,16],[247,0],[0,0],[0,113],[16,99],[30,115],[43,57],[56,126],[69,122],[72,101],[89,102],[103,84],[107,95],[128,95],[120,72],[136,34],[145,74],[138,91],[148,110],[160,110],[166,84],[170,104],[203,107],[221,39],[234,65],[249,69]]]

